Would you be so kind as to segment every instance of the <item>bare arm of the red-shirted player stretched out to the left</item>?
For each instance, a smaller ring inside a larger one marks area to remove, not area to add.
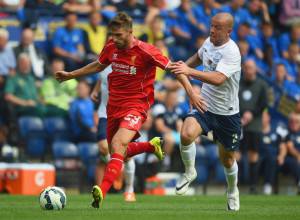
[[[100,64],[98,61],[94,61],[80,69],[67,72],[67,71],[57,71],[55,73],[55,78],[59,82],[63,82],[69,79],[74,79],[82,76],[86,76],[92,73],[101,72],[104,70],[106,65]]]

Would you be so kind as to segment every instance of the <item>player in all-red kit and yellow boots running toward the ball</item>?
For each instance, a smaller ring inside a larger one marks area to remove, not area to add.
[[[97,61],[72,72],[58,71],[58,81],[65,81],[91,73],[101,72],[108,65],[112,73],[108,78],[107,141],[111,160],[107,164],[101,186],[92,190],[94,208],[99,208],[114,180],[119,176],[126,158],[144,152],[163,159],[161,140],[132,142],[146,120],[147,111],[154,102],[156,67],[166,69],[169,59],[154,46],[136,39],[132,34],[132,19],[118,13],[108,25],[109,40]]]

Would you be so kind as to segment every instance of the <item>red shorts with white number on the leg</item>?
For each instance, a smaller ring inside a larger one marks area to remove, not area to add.
[[[136,131],[133,140],[140,137],[139,130],[146,121],[147,114],[135,108],[107,106],[107,142],[111,143],[119,128]]]

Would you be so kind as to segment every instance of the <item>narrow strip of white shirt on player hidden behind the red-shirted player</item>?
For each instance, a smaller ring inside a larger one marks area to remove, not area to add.
[[[100,97],[100,105],[98,108],[98,117],[99,118],[107,118],[106,115],[106,105],[108,100],[108,83],[107,83],[107,76],[112,72],[111,65],[106,67],[100,73],[100,80],[101,80],[101,97]]]

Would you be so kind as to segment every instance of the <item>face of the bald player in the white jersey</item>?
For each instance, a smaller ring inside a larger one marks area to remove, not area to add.
[[[224,21],[212,18],[210,26],[210,42],[215,46],[221,46],[229,38],[230,30]]]

